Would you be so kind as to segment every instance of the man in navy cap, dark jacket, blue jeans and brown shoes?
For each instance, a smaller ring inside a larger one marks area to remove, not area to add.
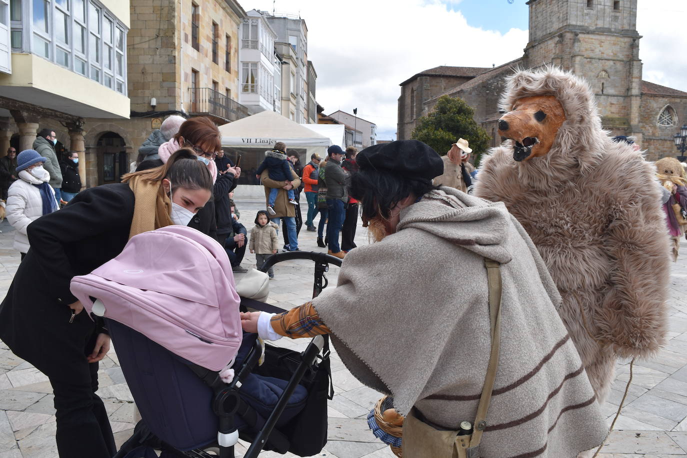
[[[328,254],[343,259],[346,253],[339,246],[339,232],[343,226],[343,218],[346,216],[344,206],[348,203],[348,189],[346,179],[348,173],[341,168],[343,151],[338,145],[330,146],[327,150],[329,159],[324,174],[324,182],[327,185],[327,209],[329,222],[327,223],[327,240],[329,243]]]

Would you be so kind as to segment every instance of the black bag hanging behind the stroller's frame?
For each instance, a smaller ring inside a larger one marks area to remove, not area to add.
[[[308,369],[301,380],[308,390],[306,404],[280,431],[289,439],[289,452],[299,457],[311,457],[327,443],[327,400],[334,397],[329,360],[329,339],[324,337],[322,358]],[[300,363],[300,353],[287,348],[265,345],[264,363],[256,374],[289,380]]]

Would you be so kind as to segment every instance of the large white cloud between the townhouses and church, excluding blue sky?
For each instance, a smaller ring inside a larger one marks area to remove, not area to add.
[[[452,3],[457,8],[460,1]],[[243,6],[272,11],[271,1]],[[275,8],[300,12],[306,21],[308,59],[325,113],[358,108],[377,124],[380,139],[395,135],[399,83],[438,65],[499,65],[521,56],[527,44],[526,31],[502,35],[471,27],[436,0],[278,0]]]

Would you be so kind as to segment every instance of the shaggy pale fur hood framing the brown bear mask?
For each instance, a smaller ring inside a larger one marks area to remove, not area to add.
[[[499,106],[504,111],[511,111],[517,100],[532,95],[553,95],[563,106],[565,122],[548,154],[519,163],[511,159],[520,178],[528,185],[550,189],[554,184],[560,185],[566,179],[571,180],[595,168],[605,150],[631,149],[613,143],[607,131],[602,129],[594,92],[583,78],[557,67],[520,70],[506,79]],[[491,155],[499,150],[505,150],[502,154],[506,151],[512,154],[513,142],[505,141],[492,150]]]

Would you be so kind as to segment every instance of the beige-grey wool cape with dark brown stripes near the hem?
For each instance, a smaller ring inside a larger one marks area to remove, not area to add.
[[[442,187],[346,255],[313,299],[348,369],[403,414],[473,422],[491,348],[484,257],[502,263],[501,352],[481,456],[567,458],[607,426],[537,249],[502,203]],[[414,457],[408,457],[414,458]]]

